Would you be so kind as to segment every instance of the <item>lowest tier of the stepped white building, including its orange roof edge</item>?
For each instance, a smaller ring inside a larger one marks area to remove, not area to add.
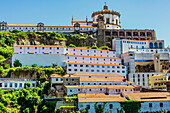
[[[105,73],[119,74],[126,78],[126,66],[119,64],[67,62],[67,73]]]

